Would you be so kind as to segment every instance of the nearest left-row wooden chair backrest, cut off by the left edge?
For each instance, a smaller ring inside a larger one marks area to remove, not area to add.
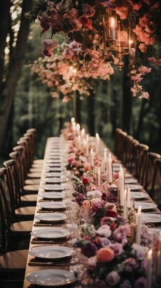
[[[8,235],[12,217],[10,213],[10,186],[8,185],[7,169],[0,168],[0,232],[1,232],[1,252],[5,252],[8,248]]]

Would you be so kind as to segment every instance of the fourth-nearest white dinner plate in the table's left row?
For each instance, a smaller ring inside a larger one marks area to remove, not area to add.
[[[55,222],[55,221],[63,221],[67,219],[64,213],[44,213],[35,215],[35,219],[38,219],[43,222]]]

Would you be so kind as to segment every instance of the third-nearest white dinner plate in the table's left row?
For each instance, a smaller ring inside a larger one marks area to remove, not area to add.
[[[38,238],[57,239],[68,237],[70,235],[70,231],[64,228],[51,227],[34,230],[31,232],[31,235]]]

